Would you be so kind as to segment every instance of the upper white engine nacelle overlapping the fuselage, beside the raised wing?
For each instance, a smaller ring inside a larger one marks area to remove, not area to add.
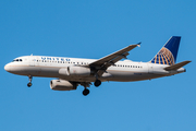
[[[68,68],[60,69],[59,74],[89,76],[90,75],[90,69],[85,68],[85,67],[68,67]]]

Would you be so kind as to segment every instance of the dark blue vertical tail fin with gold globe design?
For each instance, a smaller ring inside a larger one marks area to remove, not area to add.
[[[176,61],[180,41],[180,36],[172,36],[150,62],[173,66]]]

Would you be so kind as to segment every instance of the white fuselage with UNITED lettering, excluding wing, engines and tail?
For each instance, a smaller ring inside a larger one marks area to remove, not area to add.
[[[20,75],[59,78],[72,82],[94,82],[96,80],[95,75],[63,75],[59,72],[60,69],[68,67],[88,67],[88,64],[94,61],[96,61],[96,59],[25,56],[14,59],[14,61],[8,63],[4,69],[8,72]],[[175,71],[166,71],[163,70],[166,67],[169,66],[124,60],[109,67],[99,80],[131,82],[185,72],[183,68]]]

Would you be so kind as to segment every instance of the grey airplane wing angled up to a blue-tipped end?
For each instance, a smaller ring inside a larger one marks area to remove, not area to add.
[[[135,47],[139,46],[140,43],[136,44],[136,45],[130,45],[119,51],[115,51],[109,56],[106,56],[95,62],[89,63],[90,68],[94,68],[96,70],[96,74],[98,76],[101,76],[103,74],[103,72],[106,72],[106,70],[110,67],[113,66],[115,62],[118,62],[119,60],[125,58],[126,56],[128,56],[128,51],[134,49]]]

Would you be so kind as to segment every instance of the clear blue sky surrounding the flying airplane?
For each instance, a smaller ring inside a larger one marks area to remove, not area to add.
[[[196,129],[194,0],[1,0],[2,131],[194,131]],[[127,57],[149,61],[171,36],[182,36],[177,62],[187,72],[142,82],[105,82],[56,92],[52,79],[10,74],[4,64],[20,56],[99,59],[142,41]]]

